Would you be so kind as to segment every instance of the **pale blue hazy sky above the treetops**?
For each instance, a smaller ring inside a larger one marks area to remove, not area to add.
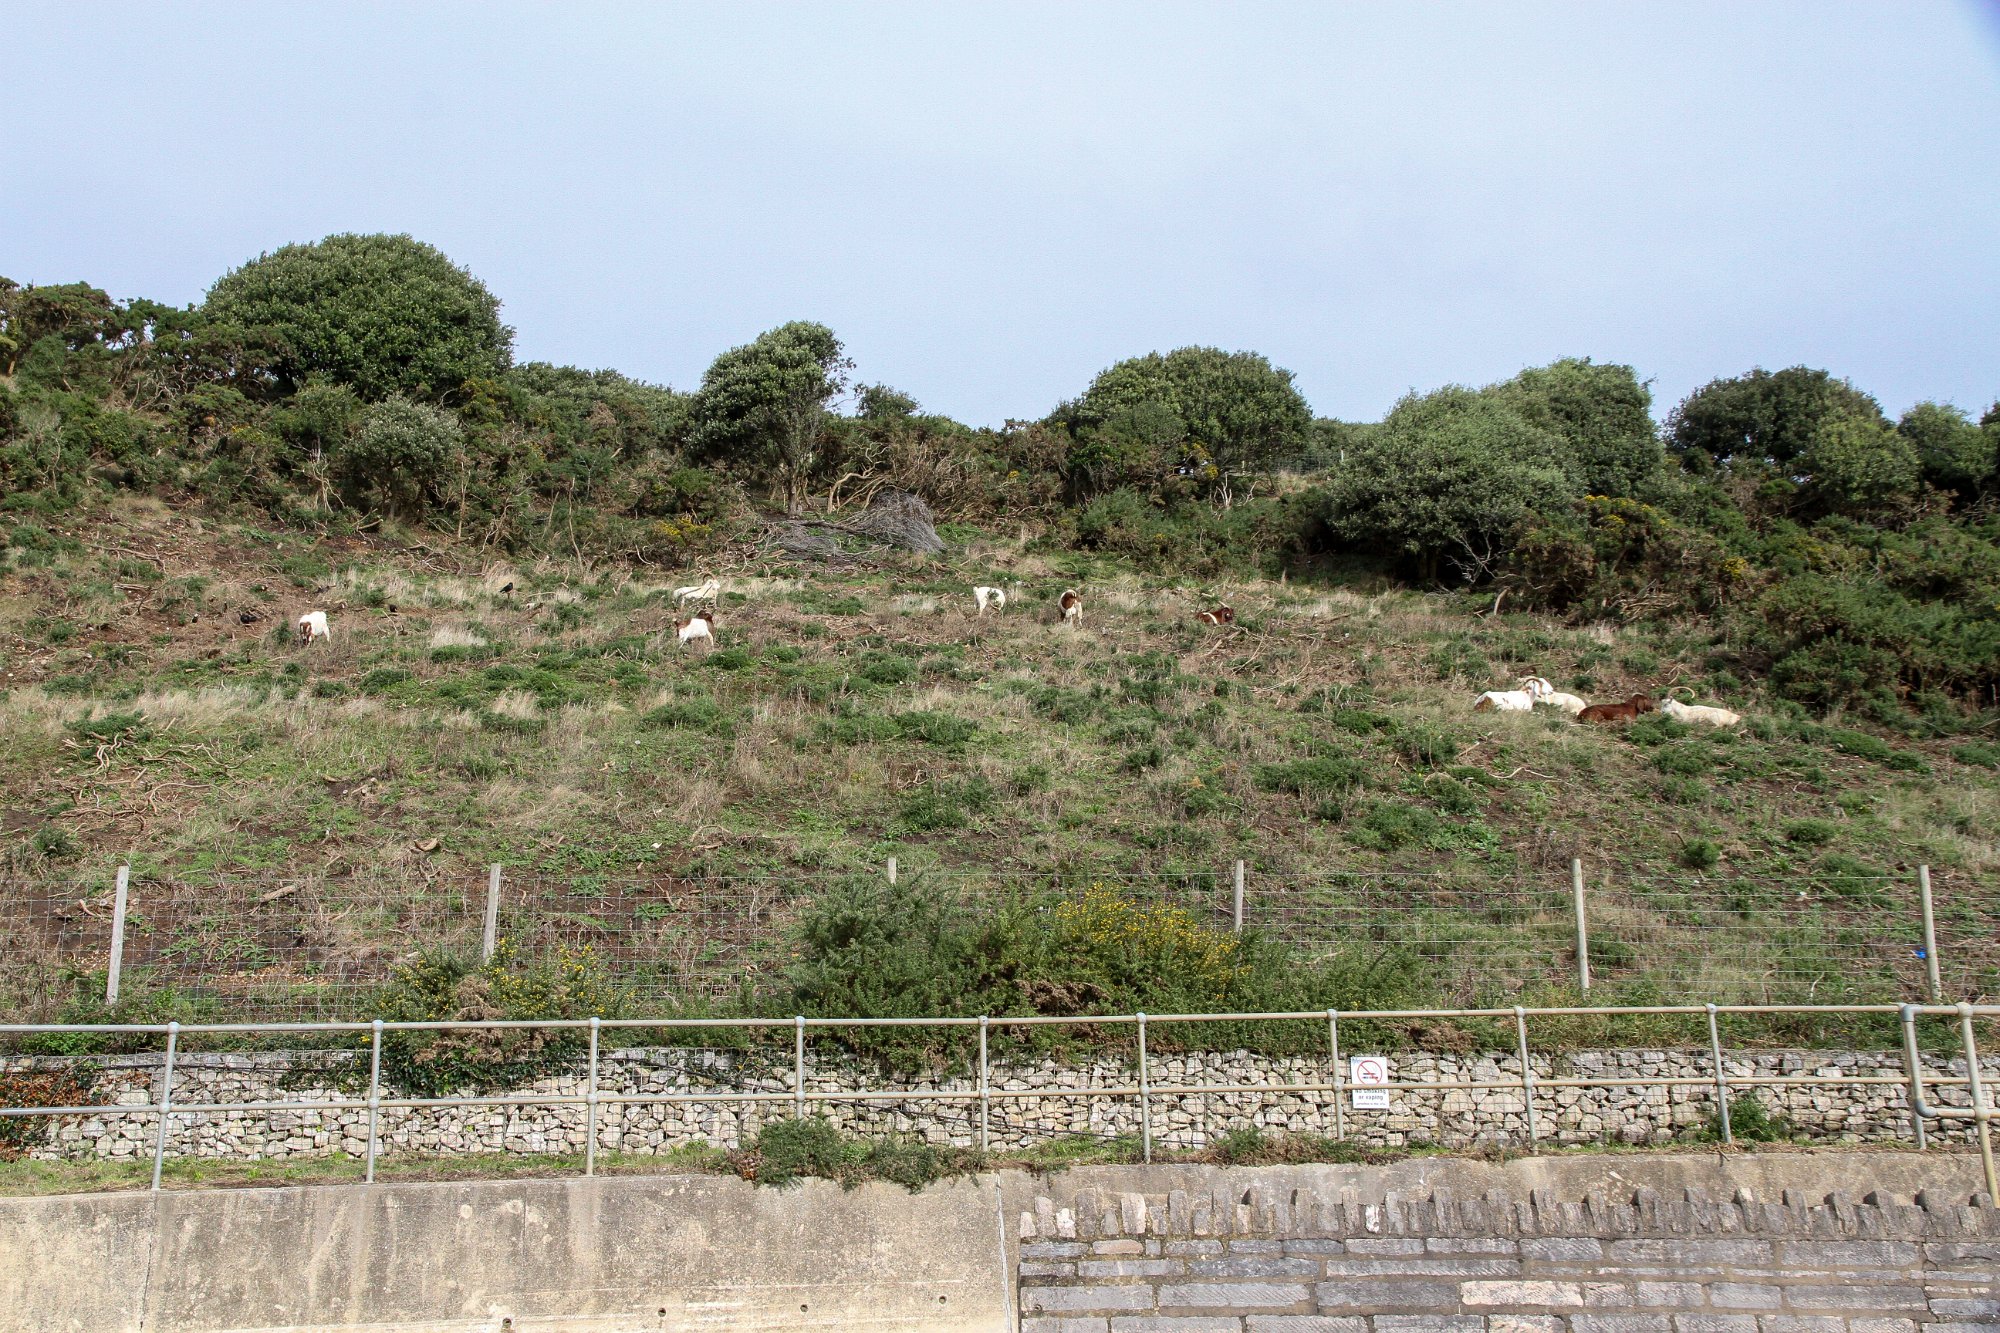
[[[974,424],[1152,350],[1322,416],[1558,356],[1662,414],[1824,366],[2000,398],[2000,0],[0,0],[0,274],[198,302],[332,232],[520,360],[694,388],[830,324]]]

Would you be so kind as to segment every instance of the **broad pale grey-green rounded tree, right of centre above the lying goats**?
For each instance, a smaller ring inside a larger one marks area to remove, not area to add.
[[[1326,522],[1348,542],[1416,560],[1424,578],[1446,558],[1472,578],[1530,512],[1564,512],[1578,498],[1566,462],[1558,436],[1492,394],[1458,384],[1408,394],[1348,450]]]

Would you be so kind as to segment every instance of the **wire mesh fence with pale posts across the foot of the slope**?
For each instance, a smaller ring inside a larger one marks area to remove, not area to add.
[[[430,949],[586,955],[640,1003],[726,1001],[776,985],[796,925],[872,873],[728,877],[180,875],[126,895],[126,997],[172,993],[212,1017],[366,1017],[398,963]],[[2000,995],[2000,885],[1932,883],[1932,947],[1916,875],[1754,881],[1682,873],[1514,883],[1440,875],[1152,875],[1090,869],[920,869],[904,887],[978,909],[1060,905],[1092,891],[1260,933],[1300,959],[1396,959],[1432,1003],[1582,991],[1628,1003],[1880,1003]],[[110,983],[116,869],[0,879],[0,1013],[48,1021]],[[492,935],[488,939],[488,913]]]

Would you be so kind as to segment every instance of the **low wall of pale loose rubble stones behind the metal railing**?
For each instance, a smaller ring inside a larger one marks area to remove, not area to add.
[[[1530,1143],[1528,1121],[1512,1055],[1398,1053],[1398,1083],[1494,1081],[1484,1089],[1394,1089],[1388,1111],[1336,1111],[1332,1091],[1304,1085],[1332,1081],[1324,1059],[1264,1057],[1246,1051],[1166,1055],[1150,1063],[1150,1123],[1160,1149],[1200,1149],[1236,1129],[1316,1133],[1370,1147],[1514,1145]],[[0,1069],[56,1067],[68,1059],[14,1057]],[[1716,1089],[1706,1051],[1580,1051],[1532,1057],[1536,1079],[1694,1079],[1652,1087],[1540,1087],[1536,1091],[1536,1145],[1630,1143],[1658,1145],[1710,1121]],[[124,1107],[156,1105],[162,1061],[158,1055],[98,1057],[98,1089]],[[1796,1131],[1830,1143],[1888,1143],[1914,1137],[1906,1109],[1902,1061],[1892,1053],[1852,1051],[1744,1051],[1726,1055],[1728,1077],[1826,1075],[1878,1079],[1840,1085],[1738,1087],[1784,1115]],[[1964,1061],[1926,1061],[1940,1079],[1964,1079]],[[356,1099],[354,1075],[366,1073],[352,1053],[188,1053],[174,1067],[176,1105],[334,1101]],[[344,1077],[336,1077],[344,1075]],[[1986,1079],[2000,1087],[2000,1057],[1986,1065]],[[792,1061],[770,1051],[622,1049],[600,1061],[598,1087],[606,1095],[642,1101],[604,1103],[598,1109],[598,1147],[626,1153],[666,1153],[708,1143],[734,1149],[770,1117],[792,1115]],[[1256,1091],[1202,1093],[1174,1087],[1242,1085]],[[1140,1135],[1136,1095],[1074,1097],[1080,1089],[1130,1089],[1136,1071],[1128,1061],[1098,1057],[1058,1063],[1052,1059],[996,1063],[990,1071],[988,1143],[996,1151],[1024,1149],[1066,1135]],[[342,1091],[344,1089],[344,1091]],[[536,1081],[516,1095],[582,1097],[586,1077],[568,1071]],[[834,1053],[808,1053],[808,1093],[846,1095],[852,1101],[810,1101],[808,1111],[828,1115],[858,1135],[908,1135],[936,1145],[974,1147],[980,1141],[976,1099],[866,1101],[864,1089],[912,1093],[976,1093],[972,1071],[896,1079],[888,1071]],[[764,1093],[758,1103],[644,1101],[648,1095]],[[1964,1087],[1936,1087],[1944,1105],[1966,1105]],[[368,1113],[362,1105],[288,1107],[278,1111],[212,1111],[170,1117],[168,1153],[196,1157],[324,1157],[362,1153]],[[568,1105],[510,1107],[384,1107],[378,1121],[382,1153],[580,1153],[586,1109]],[[156,1121],[146,1115],[80,1115],[58,1121],[50,1157],[148,1157]],[[1964,1141],[1966,1121],[1930,1125],[1938,1141]]]

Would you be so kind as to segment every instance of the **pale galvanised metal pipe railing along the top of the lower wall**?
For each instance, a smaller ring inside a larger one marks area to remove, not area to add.
[[[1536,1019],[1620,1019],[1642,1015],[1678,1015],[1704,1019],[1708,1029],[1710,1069],[1704,1075],[1648,1075],[1648,1077],[1538,1077],[1532,1061],[1530,1021]],[[1796,1073],[1796,1075],[1732,1075],[1724,1063],[1722,1017],[1778,1017],[1778,1015],[1894,1015],[1902,1027],[1902,1071],[1900,1073]],[[1956,1019],[1958,1045],[1964,1059],[1964,1077],[1934,1073],[1924,1069],[1918,1053],[1916,1025],[1920,1019]],[[1724,1143],[1734,1143],[1730,1125],[1730,1095],[1748,1087],[1854,1087],[1884,1085],[1904,1089],[1912,1123],[1912,1137],[1918,1147],[1926,1147],[1926,1121],[1970,1121],[1978,1141],[1980,1161],[1986,1171],[1986,1189],[2000,1197],[2000,1179],[1994,1169],[1994,1149],[1990,1123],[1996,1115],[1992,1099],[1980,1073],[1980,1049],[1974,1033],[1974,1019],[2000,1019],[2000,1005],[1586,1005],[1586,1007],[1524,1007],[1512,1009],[1374,1009],[1374,1011],[1294,1011],[1294,1013],[1204,1013],[1204,1015],[1076,1015],[1076,1017],[954,1017],[954,1019],[812,1019],[796,1015],[792,1019],[494,1019],[494,1021],[436,1021],[436,1023],[106,1023],[106,1025],[0,1025],[4,1037],[62,1037],[74,1041],[88,1035],[160,1035],[164,1043],[164,1069],[160,1077],[158,1101],[148,1105],[62,1105],[62,1107],[0,1107],[0,1117],[156,1117],[158,1131],[152,1149],[152,1187],[160,1189],[160,1173],[168,1157],[168,1127],[172,1117],[232,1115],[244,1111],[366,1111],[366,1153],[364,1179],[374,1181],[376,1157],[380,1151],[380,1117],[386,1109],[426,1109],[426,1107],[584,1107],[584,1175],[596,1175],[598,1117],[606,1105],[674,1105],[674,1103],[792,1103],[796,1117],[806,1115],[812,1103],[912,1103],[912,1101],[958,1101],[978,1107],[978,1145],[982,1151],[990,1143],[992,1107],[1008,1099],[1138,1099],[1140,1135],[1144,1161],[1152,1161],[1154,1149],[1154,1101],[1160,1097],[1184,1095],[1332,1095],[1334,1137],[1346,1137],[1344,1093],[1356,1091],[1352,1079],[1342,1079],[1340,1065],[1340,1023],[1356,1021],[1436,1021],[1436,1019],[1498,1019],[1510,1021],[1516,1037],[1520,1073],[1506,1077],[1496,1071],[1490,1079],[1408,1079],[1386,1081],[1380,1089],[1394,1091],[1518,1091],[1528,1131],[1528,1149],[1540,1147],[1542,1135],[1536,1115],[1536,1093],[1552,1089],[1712,1089],[1716,1117]],[[1300,1083],[1154,1083],[1152,1059],[1148,1051],[1148,1031],[1162,1025],[1192,1023],[1312,1023],[1326,1031],[1326,1077]],[[854,1031],[854,1029],[978,1029],[978,1079],[964,1091],[950,1089],[838,1089],[810,1091],[806,1085],[806,1039],[810,1031]],[[1112,1087],[1032,1087],[1006,1089],[992,1085],[990,1037],[996,1029],[1032,1027],[1132,1027],[1134,1029],[1134,1069],[1136,1081]],[[386,1033],[460,1033],[460,1031],[586,1031],[586,1081],[580,1093],[498,1093],[486,1097],[394,1097],[382,1085],[382,1039]],[[600,1087],[602,1035],[604,1031],[688,1031],[688,1029],[762,1029],[792,1033],[792,1087],[784,1091],[632,1091],[618,1093]],[[174,1103],[174,1063],[184,1037],[194,1035],[368,1035],[368,1091],[366,1097],[298,1097],[280,1101],[206,1101]],[[1370,1091],[1374,1085],[1370,1085]],[[1966,1105],[1938,1105],[1926,1091],[1964,1089]],[[1356,1103],[1358,1105],[1358,1103]]]

